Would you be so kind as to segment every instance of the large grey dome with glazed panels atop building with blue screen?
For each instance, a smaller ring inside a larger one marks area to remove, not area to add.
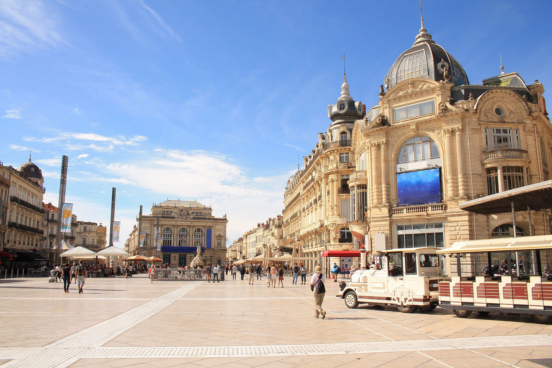
[[[445,67],[448,70],[450,82],[456,86],[469,84],[468,76],[460,63],[432,40],[427,29],[423,27],[416,36],[410,49],[403,52],[395,61],[389,73],[384,78],[386,90],[408,78],[428,78],[442,81]]]

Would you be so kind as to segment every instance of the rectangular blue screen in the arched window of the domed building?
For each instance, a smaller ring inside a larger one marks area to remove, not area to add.
[[[440,168],[397,173],[399,206],[439,203],[441,201],[440,176]]]

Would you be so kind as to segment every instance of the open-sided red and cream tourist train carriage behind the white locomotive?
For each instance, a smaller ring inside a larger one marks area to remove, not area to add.
[[[500,312],[552,323],[552,235],[463,241],[437,250],[452,277],[439,281],[439,306],[458,317]]]

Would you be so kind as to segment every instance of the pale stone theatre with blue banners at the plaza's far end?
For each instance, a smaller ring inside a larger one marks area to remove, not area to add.
[[[140,216],[136,217],[140,221]],[[151,215],[142,215],[141,231],[146,233],[139,246],[139,224],[130,233],[128,249],[131,255],[156,255],[172,266],[188,265],[197,247],[208,263],[222,264],[226,260],[226,215],[213,216],[211,207],[197,201],[166,200],[151,207]],[[161,249],[157,250],[155,227],[161,231]]]

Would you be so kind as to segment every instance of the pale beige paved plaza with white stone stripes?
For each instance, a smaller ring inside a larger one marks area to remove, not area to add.
[[[238,276],[239,279],[239,276]],[[2,367],[543,367],[552,326],[529,317],[462,319],[442,308],[349,310],[327,283],[326,319],[309,285],[88,279],[0,281]],[[549,363],[548,363],[549,364]]]

